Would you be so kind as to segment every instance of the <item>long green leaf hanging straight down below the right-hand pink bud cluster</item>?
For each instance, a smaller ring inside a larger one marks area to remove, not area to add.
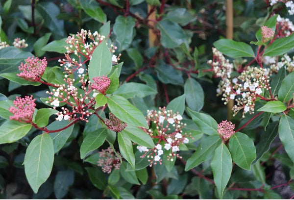
[[[215,150],[211,160],[213,179],[221,199],[223,190],[230,179],[232,167],[231,154],[225,144],[221,143],[221,145]]]

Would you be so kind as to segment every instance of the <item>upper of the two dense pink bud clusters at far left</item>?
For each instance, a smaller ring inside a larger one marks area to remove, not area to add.
[[[42,78],[46,67],[46,57],[44,57],[42,60],[34,56],[28,57],[25,60],[25,64],[21,63],[19,66],[19,70],[22,72],[17,74],[17,76],[24,78],[25,80],[37,82]]]

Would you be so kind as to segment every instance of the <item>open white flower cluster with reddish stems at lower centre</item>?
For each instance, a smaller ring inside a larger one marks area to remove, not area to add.
[[[173,161],[178,154],[181,144],[189,143],[191,133],[183,133],[182,128],[186,126],[181,120],[183,117],[165,107],[156,110],[147,110],[147,123],[150,128],[142,128],[156,143],[154,148],[148,149],[144,146],[137,146],[140,152],[144,152],[141,157],[147,156],[150,167],[157,162],[162,164],[164,151],[168,151],[167,160]],[[152,128],[154,127],[154,129]]]

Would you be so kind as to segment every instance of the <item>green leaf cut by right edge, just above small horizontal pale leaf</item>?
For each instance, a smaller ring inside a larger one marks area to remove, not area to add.
[[[293,34],[294,35],[294,34]],[[281,84],[278,92],[278,100],[282,102],[288,102],[293,99],[294,93],[294,72],[287,75]]]

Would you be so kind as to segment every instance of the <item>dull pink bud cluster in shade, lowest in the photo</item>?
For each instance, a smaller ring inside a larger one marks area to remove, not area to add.
[[[118,154],[121,156],[120,153]],[[98,166],[102,167],[102,172],[110,174],[113,169],[120,169],[120,158],[115,154],[111,147],[108,147],[106,150],[99,151],[99,157],[102,157],[98,159]]]

